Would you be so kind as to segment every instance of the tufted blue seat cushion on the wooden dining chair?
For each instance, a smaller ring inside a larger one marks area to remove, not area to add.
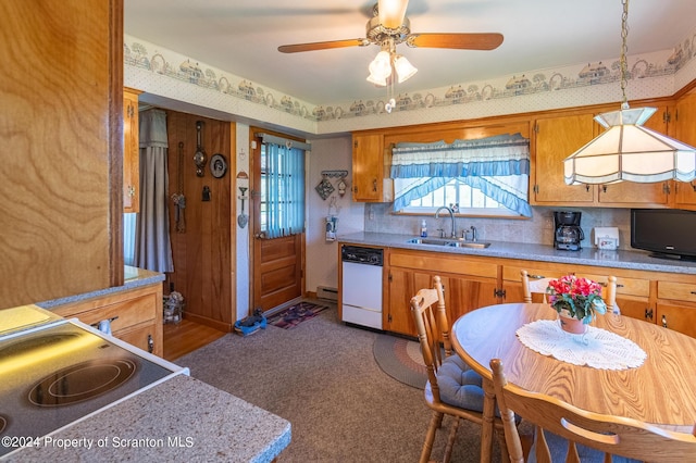
[[[483,379],[459,355],[449,355],[437,370],[439,398],[460,409],[483,412]]]

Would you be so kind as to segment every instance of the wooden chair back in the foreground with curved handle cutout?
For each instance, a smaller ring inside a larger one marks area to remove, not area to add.
[[[513,463],[525,461],[514,424],[515,415],[535,425],[538,463],[551,463],[544,429],[568,439],[566,461],[569,463],[580,463],[576,443],[605,452],[605,463],[611,462],[612,454],[646,462],[696,461],[696,425],[692,434],[675,433],[636,420],[588,412],[508,383],[499,359],[490,361],[490,370],[505,439]]]

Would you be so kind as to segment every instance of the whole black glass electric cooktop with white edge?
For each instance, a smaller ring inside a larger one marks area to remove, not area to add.
[[[0,436],[50,435],[182,373],[77,320],[1,335]]]

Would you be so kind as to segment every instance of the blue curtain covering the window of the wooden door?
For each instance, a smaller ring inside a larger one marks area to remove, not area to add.
[[[262,210],[266,238],[304,232],[304,149],[309,145],[261,134],[265,146]]]

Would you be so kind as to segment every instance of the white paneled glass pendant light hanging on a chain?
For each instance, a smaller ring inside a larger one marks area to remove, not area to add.
[[[696,149],[643,127],[655,108],[630,109],[626,100],[629,0],[622,0],[621,110],[595,117],[606,130],[563,161],[566,184],[656,183],[696,178]]]

